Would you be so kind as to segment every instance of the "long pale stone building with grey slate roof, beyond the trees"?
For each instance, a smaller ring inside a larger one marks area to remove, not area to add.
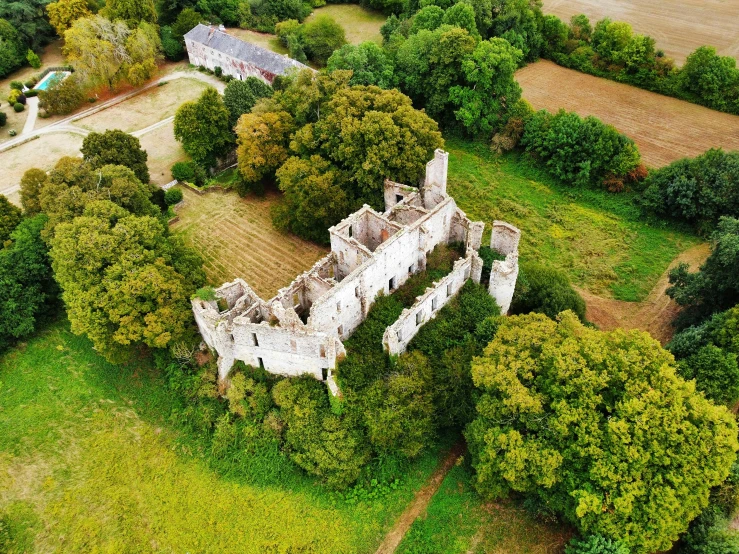
[[[185,47],[190,63],[224,75],[244,80],[258,77],[272,84],[277,75],[292,70],[310,69],[302,63],[245,42],[215,27],[198,24],[185,35]]]

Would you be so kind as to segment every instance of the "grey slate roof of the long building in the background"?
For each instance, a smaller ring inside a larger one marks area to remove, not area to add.
[[[281,56],[256,44],[244,42],[202,23],[198,23],[196,27],[190,29],[185,35],[185,38],[209,46],[238,60],[252,63],[275,75],[285,75],[288,70],[294,67],[298,69],[310,69],[308,66],[287,56]]]

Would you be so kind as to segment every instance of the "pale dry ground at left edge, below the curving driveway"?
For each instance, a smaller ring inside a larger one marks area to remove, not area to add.
[[[32,167],[49,170],[63,156],[78,156],[81,146],[82,137],[79,135],[52,133],[1,152],[3,173],[0,194],[5,194],[11,202],[17,204],[18,185],[27,170]]]

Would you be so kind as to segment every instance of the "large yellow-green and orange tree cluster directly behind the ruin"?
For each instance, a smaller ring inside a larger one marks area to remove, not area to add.
[[[350,86],[349,77],[303,72],[236,126],[245,187],[276,178],[285,196],[275,223],[322,242],[363,203],[381,207],[385,178],[416,182],[442,145],[436,123],[408,97]]]

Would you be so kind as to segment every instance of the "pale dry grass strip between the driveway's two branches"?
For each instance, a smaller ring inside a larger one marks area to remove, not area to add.
[[[183,102],[194,100],[208,85],[195,79],[175,79],[75,122],[90,131],[138,131],[173,116]]]

